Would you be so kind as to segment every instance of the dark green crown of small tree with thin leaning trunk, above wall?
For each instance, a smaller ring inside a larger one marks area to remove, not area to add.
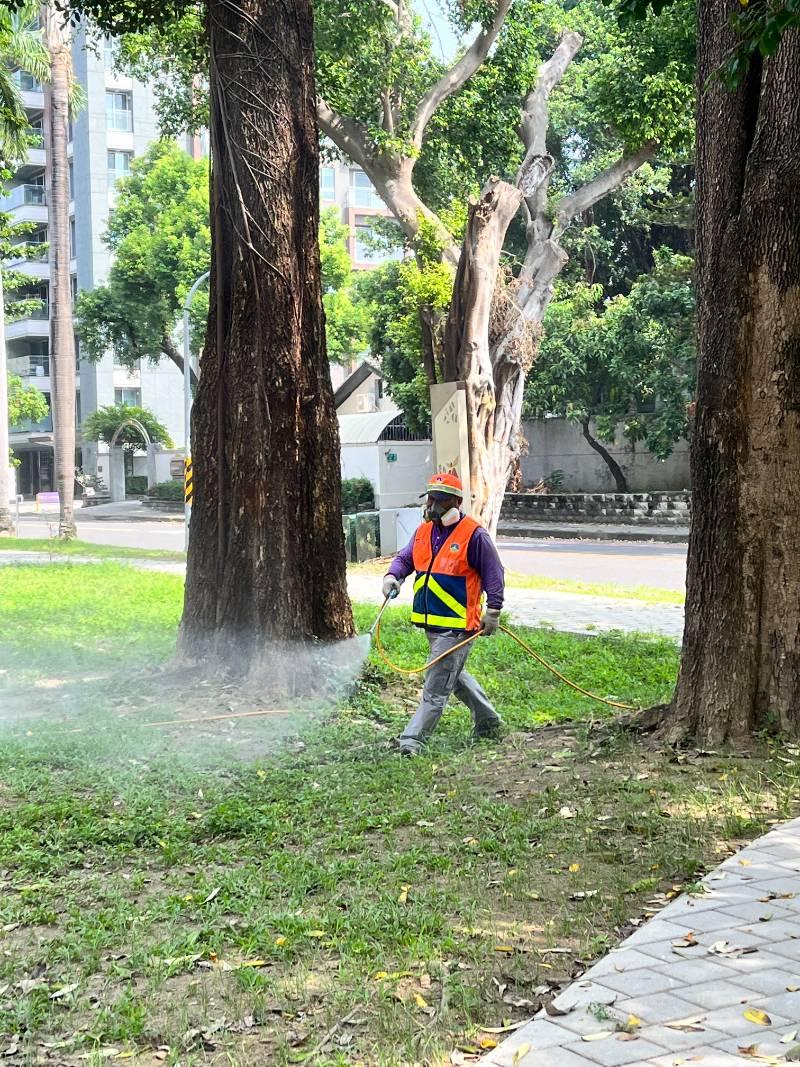
[[[661,249],[628,296],[601,304],[602,288],[579,284],[547,310],[526,414],[596,418],[666,459],[686,433],[694,386],[692,261]]]

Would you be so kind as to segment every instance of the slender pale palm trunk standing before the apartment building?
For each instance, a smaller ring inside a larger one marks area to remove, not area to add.
[[[59,537],[75,528],[75,328],[69,273],[69,95],[73,61],[64,16],[53,4],[43,7],[44,36],[50,53],[45,85],[45,147],[48,237],[50,244],[50,384],[59,491]]]

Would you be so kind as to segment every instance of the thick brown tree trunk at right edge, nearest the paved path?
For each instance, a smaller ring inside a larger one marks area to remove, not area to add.
[[[740,87],[733,0],[700,4],[699,361],[673,733],[800,734],[800,33]]]

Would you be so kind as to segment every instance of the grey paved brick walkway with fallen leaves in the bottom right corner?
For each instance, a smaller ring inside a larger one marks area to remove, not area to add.
[[[703,885],[704,894],[674,901],[562,992],[555,1005],[564,1015],[540,1013],[482,1065],[788,1062],[800,1046],[800,819],[725,860]],[[639,1020],[633,1039],[617,1029],[630,1016]]]

